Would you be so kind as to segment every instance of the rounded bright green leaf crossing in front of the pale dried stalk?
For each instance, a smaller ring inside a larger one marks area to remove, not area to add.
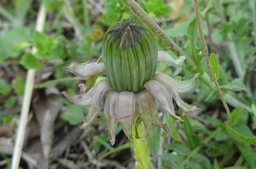
[[[20,64],[24,66],[26,69],[36,69],[41,70],[44,69],[44,65],[40,63],[40,61],[31,53],[26,53],[22,56],[20,60]]]

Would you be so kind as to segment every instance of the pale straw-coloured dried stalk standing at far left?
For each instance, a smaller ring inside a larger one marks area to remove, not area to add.
[[[46,18],[46,9],[42,3],[36,19],[36,28],[35,28],[36,31],[43,32],[45,18]],[[31,53],[32,54],[36,53],[36,47],[32,48]],[[29,111],[30,102],[31,102],[31,95],[33,91],[35,74],[36,74],[35,69],[29,69],[27,72],[23,103],[22,103],[22,108],[20,113],[20,123],[19,123],[19,128],[17,130],[17,138],[15,141],[15,146],[14,146],[13,155],[12,155],[12,169],[18,169],[20,164],[20,157],[21,157],[21,151],[22,151],[23,142],[24,142],[25,130],[28,122],[28,111]]]

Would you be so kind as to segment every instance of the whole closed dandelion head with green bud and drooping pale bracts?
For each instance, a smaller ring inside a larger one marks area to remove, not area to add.
[[[103,114],[112,145],[115,143],[118,122],[122,123],[127,137],[133,139],[132,127],[136,116],[139,117],[135,131],[142,122],[148,138],[153,121],[169,131],[157,116],[159,105],[173,119],[182,121],[175,114],[172,97],[185,113],[199,110],[185,103],[179,95],[196,87],[199,73],[186,81],[178,81],[156,69],[157,63],[180,65],[184,59],[185,56],[180,56],[174,60],[164,51],[157,52],[153,33],[143,24],[124,19],[122,23],[109,27],[104,35],[102,58],[94,63],[66,67],[77,75],[88,77],[86,85],[79,85],[82,94],[74,95],[65,91],[62,94],[78,106],[91,106],[81,128],[97,118],[101,106],[104,106]],[[100,74],[106,74],[108,78],[95,84]],[[102,99],[104,95],[106,97]]]

